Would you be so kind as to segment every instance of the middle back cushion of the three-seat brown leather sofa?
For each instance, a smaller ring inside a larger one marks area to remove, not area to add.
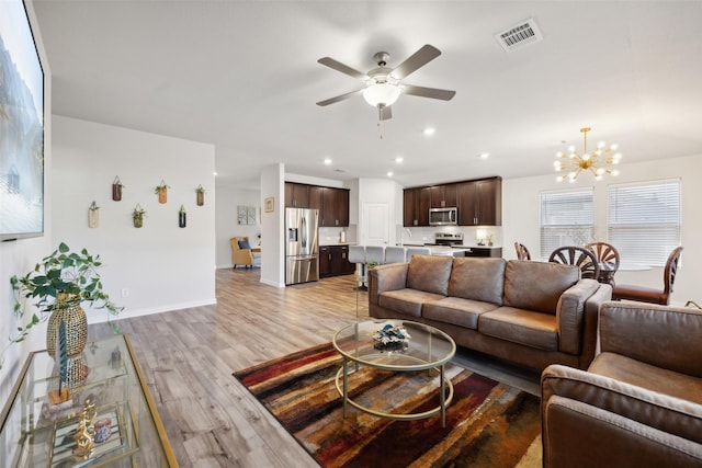
[[[502,304],[505,259],[453,259],[449,296]]]

